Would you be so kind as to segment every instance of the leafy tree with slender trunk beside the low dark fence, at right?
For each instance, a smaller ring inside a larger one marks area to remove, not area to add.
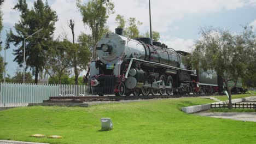
[[[188,56],[197,70],[215,70],[223,78],[229,94],[229,109],[232,109],[231,89],[236,87],[238,77],[245,77],[248,62],[254,57],[255,35],[252,28],[245,27],[241,34],[231,34],[216,28],[202,29],[201,38]],[[229,87],[228,82],[235,84]]]

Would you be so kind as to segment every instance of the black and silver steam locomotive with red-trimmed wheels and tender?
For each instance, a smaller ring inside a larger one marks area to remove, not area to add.
[[[95,48],[98,60],[91,61],[84,79],[90,94],[138,96],[219,91],[214,71],[199,73],[182,62],[187,52],[150,38],[124,37],[122,28],[104,35]]]

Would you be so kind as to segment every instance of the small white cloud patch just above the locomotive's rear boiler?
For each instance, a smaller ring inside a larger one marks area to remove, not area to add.
[[[177,51],[186,51],[190,52],[194,48],[194,40],[193,39],[180,39],[177,37],[163,36],[160,41],[164,41],[164,43]]]

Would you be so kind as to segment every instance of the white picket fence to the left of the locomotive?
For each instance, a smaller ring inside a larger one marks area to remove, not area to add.
[[[32,83],[1,83],[0,85],[0,107],[42,103],[49,97],[87,96],[85,85],[35,85]]]

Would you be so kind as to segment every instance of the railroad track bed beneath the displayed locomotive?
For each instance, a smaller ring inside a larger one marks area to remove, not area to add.
[[[212,94],[211,94],[212,95]],[[179,95],[148,95],[148,96],[89,96],[89,97],[50,97],[43,103],[84,103],[86,101],[120,101],[120,100],[137,100],[137,99],[164,99],[180,97],[202,97],[209,94],[179,94]]]

